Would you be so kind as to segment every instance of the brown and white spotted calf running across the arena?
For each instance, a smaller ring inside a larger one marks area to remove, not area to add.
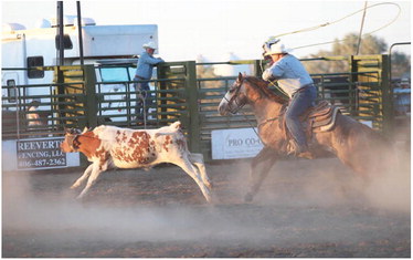
[[[158,129],[129,129],[100,125],[93,131],[71,129],[61,145],[65,153],[81,152],[92,164],[73,184],[76,188],[87,179],[77,198],[86,195],[102,171],[109,168],[150,168],[161,163],[181,167],[195,180],[203,196],[211,201],[211,183],[202,154],[191,154],[180,122]]]

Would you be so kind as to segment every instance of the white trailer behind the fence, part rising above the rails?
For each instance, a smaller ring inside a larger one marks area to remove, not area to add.
[[[142,44],[158,43],[158,27],[96,25],[92,19],[82,20],[83,54],[85,64],[98,60],[130,59],[141,53]],[[64,65],[80,64],[80,42],[76,17],[64,19]],[[1,42],[2,67],[57,65],[57,28],[44,21],[43,28],[25,30],[17,23],[3,24]],[[158,50],[157,50],[158,51]],[[99,79],[99,76],[98,76]],[[10,80],[14,80],[11,82]],[[2,84],[43,84],[53,81],[53,73],[3,71]],[[30,92],[30,90],[28,90]],[[30,93],[27,93],[30,94]]]

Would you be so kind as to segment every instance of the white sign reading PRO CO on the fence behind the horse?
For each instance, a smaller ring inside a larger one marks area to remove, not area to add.
[[[212,131],[211,137],[212,159],[250,158],[264,147],[253,128]]]

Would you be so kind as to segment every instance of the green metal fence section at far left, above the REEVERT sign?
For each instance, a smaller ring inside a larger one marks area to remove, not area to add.
[[[73,74],[83,75],[87,67],[46,66],[36,70],[52,71],[55,80],[42,84],[2,85],[6,93],[14,93],[2,97],[3,139],[61,136],[65,127],[84,127],[93,122],[88,117],[93,115],[93,108],[87,106],[89,98],[85,87],[89,83],[83,76],[71,79]],[[28,94],[28,90],[32,94]],[[40,102],[39,108],[29,111],[33,101]],[[34,113],[40,115],[40,119],[30,118]]]

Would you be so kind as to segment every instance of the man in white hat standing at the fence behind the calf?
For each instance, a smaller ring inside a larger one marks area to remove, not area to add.
[[[157,49],[153,42],[148,42],[142,45],[145,51],[140,54],[134,81],[141,81],[135,84],[137,97],[136,114],[138,119],[147,119],[148,105],[151,101],[149,91],[149,81],[152,77],[153,66],[163,62],[161,58],[153,58],[153,52]],[[144,118],[144,102],[145,102],[145,117]]]

